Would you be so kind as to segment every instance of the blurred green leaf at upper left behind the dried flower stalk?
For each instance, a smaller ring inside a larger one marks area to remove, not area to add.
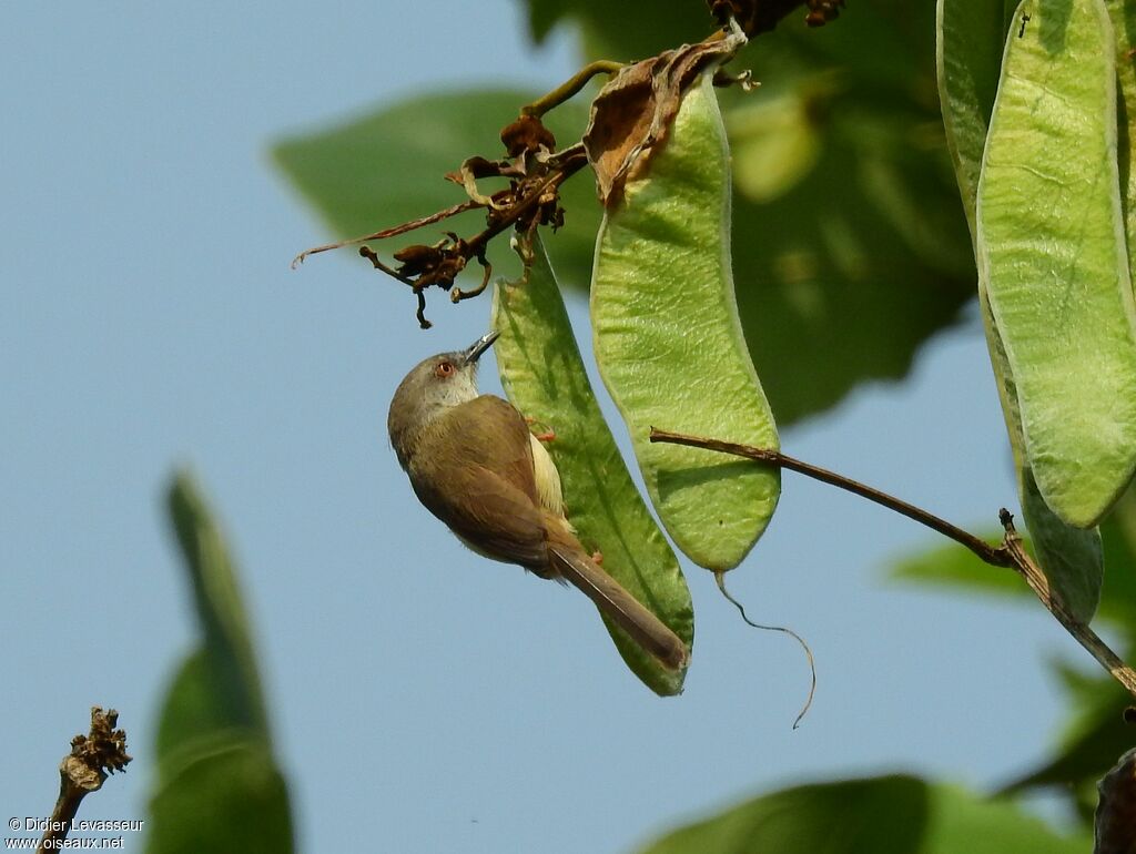
[[[465,201],[462,189],[442,176],[474,154],[503,157],[501,128],[517,118],[517,111],[533,95],[512,90],[425,95],[339,127],[283,140],[273,148],[273,159],[333,235],[357,237]],[[579,139],[587,117],[582,104],[569,103],[544,120],[563,146]],[[491,181],[485,184],[483,190],[500,189]],[[567,210],[566,224],[549,237],[549,252],[569,283],[585,286],[591,279],[600,223],[595,192],[586,178],[577,177],[565,184],[561,202]],[[375,245],[389,257],[400,246],[433,243],[444,231],[468,236],[484,227],[484,212],[470,211]],[[353,254],[352,249],[340,251]],[[520,273],[507,236],[491,245],[490,260],[498,273]],[[374,273],[362,259],[358,263],[360,275]],[[409,293],[403,299],[408,307],[414,304]]]

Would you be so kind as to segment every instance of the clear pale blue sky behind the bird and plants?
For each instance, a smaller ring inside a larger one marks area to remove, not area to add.
[[[307,851],[627,852],[790,782],[900,768],[983,786],[1037,757],[1061,708],[1041,662],[1078,648],[1039,608],[884,585],[936,541],[862,501],[787,475],[729,577],[751,616],[812,644],[796,731],[800,651],[744,627],[702,570],[686,693],[659,700],[583,597],[418,506],[390,396],[479,335],[488,301],[436,301],[421,333],[352,253],[290,270],[327,235],[267,151],[421,92],[573,69],[570,39],[532,48],[513,3],[444,23],[463,10],[0,6],[5,818],[50,810],[93,703],[120,711],[136,761],[82,814],[145,815],[157,708],[193,637],[160,503],[177,464],[242,567]],[[909,382],[783,442],[962,525],[1016,504],[972,318]]]

